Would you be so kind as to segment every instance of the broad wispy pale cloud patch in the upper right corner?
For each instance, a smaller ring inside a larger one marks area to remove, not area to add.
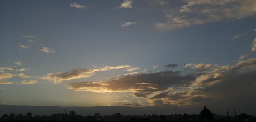
[[[170,1],[162,4],[166,20],[156,22],[157,29],[170,30],[220,20],[237,20],[256,14],[255,0],[183,0],[179,3],[180,7]]]

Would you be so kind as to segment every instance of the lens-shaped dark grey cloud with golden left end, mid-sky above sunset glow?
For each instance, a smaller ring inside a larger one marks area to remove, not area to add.
[[[103,82],[73,82],[67,87],[74,90],[95,92],[129,91],[136,93],[153,93],[171,90],[171,87],[189,86],[194,80],[195,77],[192,75],[183,76],[177,71],[164,71],[149,74],[123,75]],[[141,95],[144,96],[143,94]]]

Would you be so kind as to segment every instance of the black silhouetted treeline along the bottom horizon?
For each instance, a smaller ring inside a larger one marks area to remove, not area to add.
[[[204,107],[200,114],[171,114],[171,115],[122,115],[121,113],[115,113],[112,115],[77,115],[74,111],[69,113],[54,113],[52,115],[32,115],[27,113],[26,115],[20,114],[4,114],[0,118],[1,122],[16,121],[16,122],[59,122],[59,121],[76,121],[76,122],[148,122],[148,121],[161,121],[161,122],[256,122],[255,116],[250,116],[245,113],[235,116],[216,115],[211,113],[209,109]]]

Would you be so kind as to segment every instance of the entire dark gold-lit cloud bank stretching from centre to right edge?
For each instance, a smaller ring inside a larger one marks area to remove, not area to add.
[[[144,98],[154,106],[207,105],[225,110],[236,106],[241,111],[256,113],[256,58],[240,60],[233,66],[187,67],[190,70],[182,73],[126,74],[103,82],[73,82],[67,87],[78,91],[133,92],[132,96]]]

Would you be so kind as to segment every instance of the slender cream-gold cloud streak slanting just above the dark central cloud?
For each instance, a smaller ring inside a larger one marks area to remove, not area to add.
[[[121,65],[121,66],[115,66],[115,67],[106,66],[106,67],[95,68],[95,69],[73,69],[71,72],[55,73],[55,74],[49,73],[48,75],[41,77],[41,79],[52,81],[54,83],[60,83],[65,80],[87,78],[87,77],[94,75],[94,73],[96,71],[108,71],[108,70],[112,70],[112,69],[122,69],[122,68],[127,68],[127,67],[130,67],[130,66],[129,65]]]

